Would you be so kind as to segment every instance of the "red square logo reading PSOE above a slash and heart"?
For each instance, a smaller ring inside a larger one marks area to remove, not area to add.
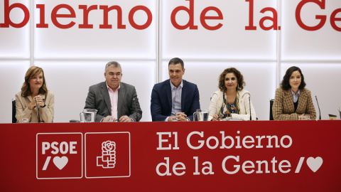
[[[36,142],[38,179],[82,178],[82,133],[38,133]]]

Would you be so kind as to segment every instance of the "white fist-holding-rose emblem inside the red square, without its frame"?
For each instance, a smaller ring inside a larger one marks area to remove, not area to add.
[[[102,156],[97,156],[97,166],[104,169],[114,168],[116,164],[116,144],[112,141],[102,143]]]

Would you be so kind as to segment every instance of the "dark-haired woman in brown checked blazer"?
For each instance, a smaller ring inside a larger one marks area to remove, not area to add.
[[[311,92],[305,88],[300,68],[293,66],[286,70],[281,87],[276,90],[272,114],[274,120],[297,120],[304,116],[316,119]]]

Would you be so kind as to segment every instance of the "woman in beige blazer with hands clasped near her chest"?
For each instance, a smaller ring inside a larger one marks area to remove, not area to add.
[[[55,97],[46,87],[43,69],[33,66],[28,68],[21,92],[16,94],[17,122],[21,123],[22,119],[38,122],[37,105],[40,122],[53,122]]]

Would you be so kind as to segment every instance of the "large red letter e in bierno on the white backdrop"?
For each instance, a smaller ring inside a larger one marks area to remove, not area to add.
[[[57,14],[59,9],[63,9],[63,8],[70,11],[70,14]],[[52,10],[52,13],[51,13],[51,20],[53,24],[55,24],[56,27],[71,28],[72,26],[75,26],[75,22],[71,21],[70,23],[63,25],[57,21],[57,18],[76,18],[75,10],[73,10],[72,7],[67,4],[60,4],[58,6],[55,6],[55,8]]]

